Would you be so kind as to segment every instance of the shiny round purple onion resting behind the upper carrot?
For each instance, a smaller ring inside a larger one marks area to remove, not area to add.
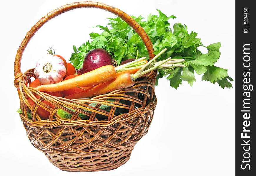
[[[82,75],[99,67],[113,64],[113,58],[106,50],[102,48],[94,48],[84,57],[83,67],[77,70],[77,75]]]

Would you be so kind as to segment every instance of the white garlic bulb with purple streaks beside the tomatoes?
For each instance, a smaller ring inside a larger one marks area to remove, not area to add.
[[[66,75],[66,72],[67,70],[65,68],[64,61],[60,57],[50,54],[39,59],[34,69],[34,74],[41,84],[61,82],[63,77]]]

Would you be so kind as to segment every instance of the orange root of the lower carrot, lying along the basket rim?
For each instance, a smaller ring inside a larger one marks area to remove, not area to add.
[[[107,82],[103,82],[96,85],[90,89],[84,90],[79,93],[74,93],[72,95],[66,96],[67,99],[77,99],[77,98],[89,98],[97,95],[106,94],[117,89],[123,89],[133,86],[135,79],[131,76],[129,72],[118,75],[115,79]]]

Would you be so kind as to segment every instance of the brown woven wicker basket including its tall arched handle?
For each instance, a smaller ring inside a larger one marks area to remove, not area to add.
[[[26,34],[15,58],[14,85],[19,94],[22,110],[20,117],[26,135],[31,144],[42,151],[53,165],[65,171],[112,170],[129,160],[134,145],[148,131],[157,103],[154,89],[156,72],[151,72],[143,79],[137,79],[134,86],[126,89],[115,90],[92,99],[69,100],[53,97],[29,87],[31,77],[35,77],[34,69],[24,73],[20,69],[22,54],[39,28],[61,13],[84,7],[103,9],[122,18],[142,38],[149,58],[154,57],[152,42],[144,29],[123,11],[91,1],[67,4],[41,18]],[[36,98],[39,96],[39,99]],[[34,106],[29,104],[28,98],[35,102]],[[114,102],[108,99],[114,99]],[[125,103],[120,103],[120,100]],[[51,108],[45,101],[56,107]],[[97,105],[90,106],[91,103]],[[111,106],[110,111],[99,109],[101,104]],[[50,112],[49,119],[41,120],[37,114],[38,107]],[[61,119],[56,113],[59,108],[72,114],[71,119]],[[125,113],[116,115],[117,108],[124,109]],[[83,109],[87,109],[87,112]],[[28,118],[29,111],[32,119]],[[89,120],[81,120],[79,113],[89,116]],[[105,118],[99,119],[97,114],[104,115]]]

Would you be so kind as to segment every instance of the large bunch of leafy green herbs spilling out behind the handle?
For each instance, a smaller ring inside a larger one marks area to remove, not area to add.
[[[143,20],[142,16],[138,18],[132,16],[132,18],[149,35],[155,54],[167,48],[167,52],[162,54],[157,61],[165,60],[168,57],[185,59],[189,66],[170,71],[159,70],[156,85],[160,77],[167,77],[170,86],[175,89],[182,84],[182,80],[187,81],[192,86],[196,81],[194,74],[197,73],[198,75],[203,74],[202,80],[210,81],[213,84],[217,82],[222,88],[232,87],[230,81],[233,79],[227,75],[228,70],[214,66],[220,58],[220,42],[205,46],[201,43],[201,39],[197,38],[197,33],[187,31],[186,25],[175,23],[173,29],[170,28],[168,20],[175,19],[176,16],[167,17],[160,10],[157,11],[159,14],[152,15],[150,13],[147,21]],[[95,26],[103,30],[101,34],[90,33],[91,41],[88,40],[78,48],[73,45],[74,53],[71,55],[70,62],[77,69],[82,67],[85,55],[93,48],[104,48],[117,61],[117,64],[126,59],[135,58],[137,50],[139,57],[148,57],[147,49],[141,38],[126,22],[118,17],[108,19],[109,23],[106,27]],[[198,50],[199,46],[207,48],[208,53],[201,53]]]

